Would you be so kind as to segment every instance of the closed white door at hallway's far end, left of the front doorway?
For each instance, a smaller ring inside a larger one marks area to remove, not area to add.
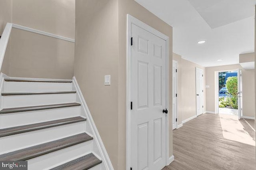
[[[196,115],[201,115],[204,111],[203,106],[203,77],[204,71],[196,67]]]

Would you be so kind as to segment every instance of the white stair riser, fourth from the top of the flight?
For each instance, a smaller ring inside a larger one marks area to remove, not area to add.
[[[86,122],[78,122],[58,127],[4,136],[0,140],[0,154],[50,142],[52,140],[58,140],[68,136],[73,136],[85,131]]]

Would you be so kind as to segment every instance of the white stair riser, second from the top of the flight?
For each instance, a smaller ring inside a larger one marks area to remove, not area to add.
[[[2,96],[2,108],[74,103],[76,93]]]

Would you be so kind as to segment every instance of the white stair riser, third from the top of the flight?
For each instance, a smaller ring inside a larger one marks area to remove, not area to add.
[[[0,114],[0,128],[17,127],[80,116],[80,106]]]

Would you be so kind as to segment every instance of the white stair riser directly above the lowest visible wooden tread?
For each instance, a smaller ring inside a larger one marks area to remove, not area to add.
[[[91,152],[91,141],[28,160],[28,170],[48,170]]]

